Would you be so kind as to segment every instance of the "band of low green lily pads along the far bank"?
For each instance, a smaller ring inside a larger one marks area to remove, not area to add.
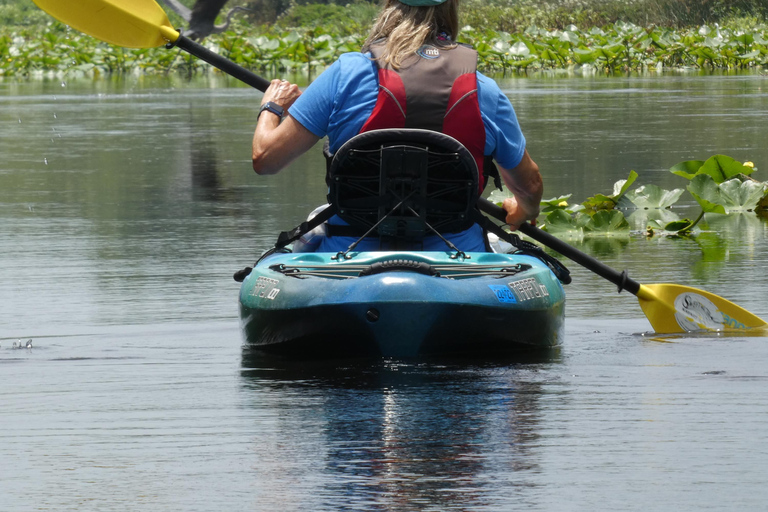
[[[615,72],[662,68],[748,68],[768,65],[768,26],[747,31],[717,26],[673,30],[617,22],[603,28],[544,30],[535,26],[509,34],[465,27],[460,40],[479,52],[486,72],[579,67]],[[343,28],[264,29],[240,24],[205,44],[249,69],[311,74],[344,52],[362,46],[363,34]],[[57,22],[0,29],[0,76],[35,73],[187,74],[210,69],[197,59],[164,48],[131,50],[101,43]]]

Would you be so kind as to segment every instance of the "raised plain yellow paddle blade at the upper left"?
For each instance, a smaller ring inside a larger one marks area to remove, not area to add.
[[[154,48],[179,37],[155,0],[34,0],[42,10],[96,39]]]

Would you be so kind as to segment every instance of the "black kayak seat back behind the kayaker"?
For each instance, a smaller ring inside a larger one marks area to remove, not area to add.
[[[418,241],[474,222],[478,169],[458,140],[419,129],[364,132],[330,160],[328,202],[351,226],[372,235]],[[429,229],[427,225],[431,226]]]

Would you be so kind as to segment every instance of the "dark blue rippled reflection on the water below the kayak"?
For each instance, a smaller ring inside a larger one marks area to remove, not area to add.
[[[302,465],[302,492],[351,509],[486,507],[540,469],[539,372],[559,352],[537,359],[270,365],[244,354],[244,407],[275,418],[267,437],[281,444],[257,448],[257,472],[297,477]]]

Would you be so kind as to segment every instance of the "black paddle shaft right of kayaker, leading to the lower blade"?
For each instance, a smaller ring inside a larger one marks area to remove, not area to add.
[[[485,198],[481,197],[478,199],[477,206],[481,211],[487,213],[495,219],[499,219],[502,222],[504,222],[507,218],[507,212],[503,208],[493,204]],[[570,258],[587,270],[591,270],[600,277],[607,279],[608,281],[618,286],[620,290],[627,290],[633,295],[637,295],[640,291],[640,283],[634,279],[630,279],[626,273],[618,272],[612,269],[608,265],[601,263],[592,256],[584,254],[572,245],[563,242],[559,238],[555,238],[546,231],[542,231],[539,228],[528,224],[527,222],[520,226],[519,230],[537,242],[540,242],[550,249],[559,252],[563,256]]]

